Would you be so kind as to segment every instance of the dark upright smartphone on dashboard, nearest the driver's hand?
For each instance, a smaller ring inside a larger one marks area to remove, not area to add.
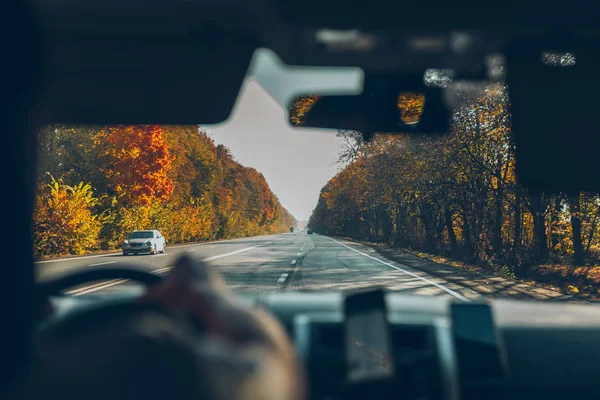
[[[344,313],[347,384],[392,382],[393,346],[384,291],[347,296]]]

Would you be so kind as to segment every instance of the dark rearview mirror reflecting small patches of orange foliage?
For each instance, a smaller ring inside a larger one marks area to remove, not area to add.
[[[422,78],[421,78],[422,79]],[[442,88],[422,80],[393,76],[365,78],[360,95],[305,94],[291,102],[289,123],[294,127],[354,130],[366,138],[373,133],[446,133],[450,112]]]

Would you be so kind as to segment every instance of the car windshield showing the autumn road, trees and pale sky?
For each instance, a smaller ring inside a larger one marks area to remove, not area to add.
[[[43,127],[40,275],[118,262],[135,250],[123,238],[157,229],[165,244],[136,262],[167,273],[186,254],[237,292],[598,295],[600,197],[519,185],[503,83],[461,97],[447,135],[370,142],[289,126],[265,86],[249,80],[220,126]]]

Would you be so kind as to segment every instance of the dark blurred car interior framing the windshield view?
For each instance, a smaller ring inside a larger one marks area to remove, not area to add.
[[[2,158],[4,171],[10,171],[5,173],[10,195],[3,197],[11,210],[5,213],[11,265],[4,268],[0,291],[0,389],[6,393],[15,384],[39,384],[30,366],[42,360],[41,368],[53,371],[44,375],[43,387],[73,384],[79,390],[73,393],[84,397],[122,392],[155,398],[159,389],[146,382],[156,378],[142,372],[155,355],[143,346],[135,351],[111,346],[111,335],[148,314],[181,323],[163,310],[137,304],[129,293],[63,294],[101,279],[144,286],[162,279],[126,262],[36,283],[29,230],[35,188],[30,183],[34,126],[42,121],[220,124],[235,108],[253,54],[269,49],[290,68],[364,72],[358,94],[303,88],[289,80],[289,122],[298,135],[311,128],[360,130],[365,140],[374,132],[443,135],[448,130],[445,86],[428,85],[423,75],[431,69],[452,71],[455,83],[508,85],[517,173],[525,187],[600,191],[600,6],[595,2],[30,0],[11,1],[4,9],[5,22],[11,20],[2,24],[7,67]],[[398,121],[392,111],[399,92],[425,95],[422,123]],[[293,105],[311,95],[321,96],[314,113],[303,109],[294,119]],[[368,310],[339,292],[241,298],[266,308],[285,326],[312,399],[600,395],[596,305],[380,295],[364,298],[362,304],[372,306]],[[49,317],[41,311],[48,299],[54,309]],[[353,392],[346,387],[345,329],[352,318],[371,311],[385,313],[389,323],[390,340],[381,351],[393,368],[386,379],[370,382],[366,392]],[[75,349],[66,346],[75,338]],[[110,370],[80,364],[82,354],[93,358],[119,351],[122,362]],[[185,390],[188,360],[182,354],[167,357],[178,376],[171,382],[179,391],[170,398],[194,397]],[[131,382],[111,380],[126,368],[140,369],[144,391],[127,392]],[[105,374],[106,382],[114,383],[86,389],[89,374]]]

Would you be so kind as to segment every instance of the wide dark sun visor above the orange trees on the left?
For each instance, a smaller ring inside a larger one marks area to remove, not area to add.
[[[218,30],[49,39],[45,118],[77,124],[223,122],[258,45]]]

